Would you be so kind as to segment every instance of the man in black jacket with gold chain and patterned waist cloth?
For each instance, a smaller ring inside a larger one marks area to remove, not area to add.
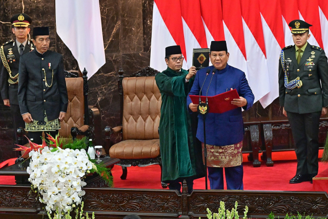
[[[55,137],[68,105],[63,56],[49,49],[48,27],[33,29],[36,49],[20,57],[18,102],[25,130],[37,144],[42,132]]]

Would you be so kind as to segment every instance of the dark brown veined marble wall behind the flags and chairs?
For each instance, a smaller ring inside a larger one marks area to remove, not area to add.
[[[102,126],[119,125],[119,99],[117,91],[118,70],[125,76],[146,67],[150,63],[152,0],[99,0],[106,64],[89,79],[89,104],[101,110]],[[66,70],[77,70],[78,65],[70,50],[55,34],[54,0],[0,0],[0,43],[12,37],[10,17],[23,11],[33,18],[33,26],[49,26],[50,50],[63,54]],[[83,16],[83,14],[81,14]],[[88,31],[88,30],[86,30]],[[257,118],[283,118],[278,100],[263,109],[255,103],[246,120]],[[288,144],[288,133],[279,133],[275,144]],[[0,103],[0,161],[13,155],[11,150],[13,129],[9,108]]]

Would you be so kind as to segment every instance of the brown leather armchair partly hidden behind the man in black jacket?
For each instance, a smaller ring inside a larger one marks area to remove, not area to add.
[[[79,77],[77,71],[65,71],[68,106],[59,129],[59,136],[65,142],[86,136],[87,141],[91,138],[93,143],[101,143],[101,115],[96,106],[88,106],[87,73],[84,69],[83,76]],[[17,135],[19,143],[22,144],[25,130],[18,128]]]

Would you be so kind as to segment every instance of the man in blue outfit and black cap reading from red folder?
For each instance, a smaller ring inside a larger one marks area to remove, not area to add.
[[[247,110],[252,107],[254,95],[245,74],[228,64],[229,53],[226,41],[212,41],[210,59],[213,66],[203,68],[196,74],[189,95],[201,93],[215,96],[231,89],[236,89],[240,99],[231,102],[238,108],[222,114],[206,115],[207,166],[211,189],[223,189],[223,167],[225,168],[228,189],[243,189],[242,139],[244,134],[241,107]],[[208,69],[215,70],[206,80]],[[197,111],[198,104],[193,104],[187,97],[187,105],[191,112]],[[197,138],[204,142],[203,117],[198,117]]]

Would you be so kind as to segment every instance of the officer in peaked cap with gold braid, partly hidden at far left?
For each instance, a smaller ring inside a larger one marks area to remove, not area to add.
[[[25,127],[17,98],[19,58],[23,54],[33,51],[35,47],[28,39],[32,18],[27,14],[19,13],[12,16],[10,22],[16,39],[4,43],[0,48],[2,60],[0,63],[0,89],[4,104],[10,106],[17,144],[16,130],[18,127]]]

